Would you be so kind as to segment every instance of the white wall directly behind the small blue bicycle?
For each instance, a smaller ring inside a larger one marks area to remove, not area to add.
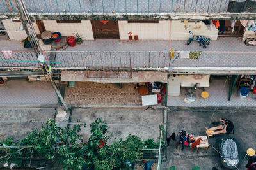
[[[191,35],[189,31],[193,32],[196,35],[202,35],[207,38],[211,38],[211,40],[216,41],[218,38],[218,29],[215,27],[211,27],[211,31],[208,30],[204,22],[188,22],[188,24],[184,24],[184,22],[180,20],[172,20],[171,24],[171,39],[172,40],[188,40]]]

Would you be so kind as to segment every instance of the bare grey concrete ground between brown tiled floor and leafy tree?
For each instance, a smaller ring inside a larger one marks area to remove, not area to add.
[[[108,143],[114,139],[125,139],[128,134],[136,134],[141,139],[154,139],[159,137],[159,124],[163,124],[164,109],[145,110],[145,108],[74,108],[72,109],[72,122],[92,123],[97,118],[104,120],[108,125]],[[132,124],[132,125],[129,125]],[[90,137],[90,125],[81,127],[83,140]]]

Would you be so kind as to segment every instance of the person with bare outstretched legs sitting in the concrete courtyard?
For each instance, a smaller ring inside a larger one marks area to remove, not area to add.
[[[214,131],[214,132],[206,132],[207,135],[230,134],[233,131],[234,125],[230,120],[225,118],[220,118],[219,121],[223,122],[223,124],[218,125],[216,127],[211,127],[211,128],[205,127],[206,131]],[[219,130],[219,131],[215,131],[215,130]]]

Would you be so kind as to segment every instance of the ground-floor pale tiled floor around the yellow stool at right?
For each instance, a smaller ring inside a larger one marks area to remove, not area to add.
[[[180,90],[180,96],[168,96],[167,105],[168,106],[184,106],[184,107],[255,107],[256,99],[251,98],[252,92],[245,98],[240,99],[239,91],[236,89],[233,90],[230,101],[228,101],[228,92],[229,92],[229,81],[227,81],[224,89],[223,85],[225,80],[212,80],[210,87],[206,87],[205,91],[209,92],[208,99],[200,98],[201,89],[197,89],[196,101],[188,104],[184,102],[186,90],[184,87]]]

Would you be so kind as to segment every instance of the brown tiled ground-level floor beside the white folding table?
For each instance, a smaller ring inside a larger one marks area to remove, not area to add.
[[[123,83],[122,88],[110,83],[76,82],[76,87],[65,90],[67,104],[112,104],[140,105],[138,90],[131,83]]]

